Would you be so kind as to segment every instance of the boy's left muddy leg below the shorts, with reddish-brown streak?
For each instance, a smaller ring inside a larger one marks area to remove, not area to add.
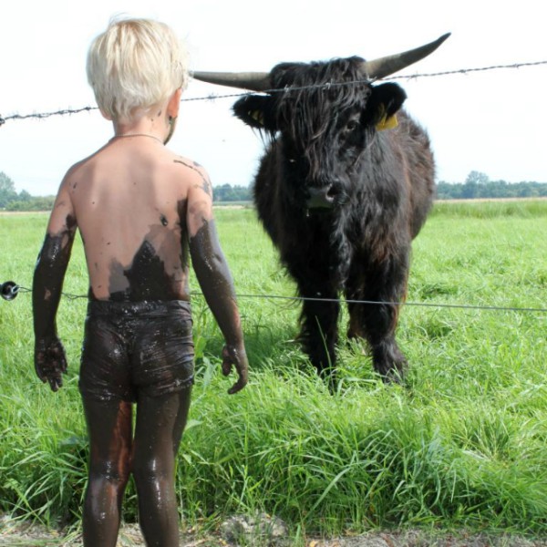
[[[114,547],[123,492],[129,480],[131,405],[84,397],[88,422],[89,478],[84,502],[85,547]]]

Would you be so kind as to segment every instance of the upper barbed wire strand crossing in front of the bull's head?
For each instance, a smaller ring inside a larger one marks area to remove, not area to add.
[[[445,77],[445,76],[455,76],[455,75],[466,76],[468,74],[477,73],[477,72],[487,72],[490,70],[517,69],[517,68],[524,68],[524,67],[540,67],[543,65],[547,65],[547,60],[532,61],[532,62],[526,62],[526,63],[512,63],[509,65],[491,65],[490,67],[458,68],[455,70],[444,70],[439,72],[418,73],[418,74],[405,75],[405,76],[391,76],[391,77],[382,78],[382,79],[383,80],[395,80],[395,79],[413,80],[413,79],[418,79],[421,77]],[[306,88],[332,88],[335,86],[350,86],[354,84],[363,84],[369,81],[370,80],[360,79],[360,80],[353,80],[349,82],[331,82],[326,85],[325,84],[315,85],[315,86],[312,85],[312,86],[305,86],[302,88],[291,88],[291,89],[300,90],[300,89],[306,89]],[[276,88],[276,89],[274,88],[274,89],[267,89],[263,92],[264,93],[280,93],[286,90],[287,88]],[[249,95],[249,92],[245,92],[245,93],[239,92],[239,93],[229,93],[229,94],[212,93],[204,97],[182,98],[181,102],[218,100],[222,98],[241,98],[247,95]],[[80,114],[81,112],[91,112],[93,110],[98,110],[98,107],[63,108],[63,109],[54,110],[51,112],[34,112],[32,114],[12,114],[10,116],[5,116],[5,117],[0,116],[0,126],[5,124],[6,121],[14,121],[14,120],[22,120],[22,119],[47,119],[47,118],[51,118],[52,116],[69,116],[74,114]]]

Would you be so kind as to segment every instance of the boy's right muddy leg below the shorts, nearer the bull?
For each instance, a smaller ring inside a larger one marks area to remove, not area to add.
[[[161,397],[139,397],[133,475],[139,524],[150,547],[179,545],[175,459],[190,408],[191,387]]]

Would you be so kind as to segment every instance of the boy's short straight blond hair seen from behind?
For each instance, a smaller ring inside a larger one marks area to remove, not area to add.
[[[88,82],[108,119],[130,120],[188,83],[188,55],[170,26],[114,19],[88,51]]]

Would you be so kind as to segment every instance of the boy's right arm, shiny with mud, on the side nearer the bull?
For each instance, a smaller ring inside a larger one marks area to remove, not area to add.
[[[226,345],[222,349],[222,373],[228,376],[235,366],[238,381],[228,393],[236,393],[247,384],[248,362],[243,331],[233,288],[232,275],[219,243],[212,215],[212,187],[207,173],[196,170],[199,178],[188,191],[187,227],[193,270]]]

